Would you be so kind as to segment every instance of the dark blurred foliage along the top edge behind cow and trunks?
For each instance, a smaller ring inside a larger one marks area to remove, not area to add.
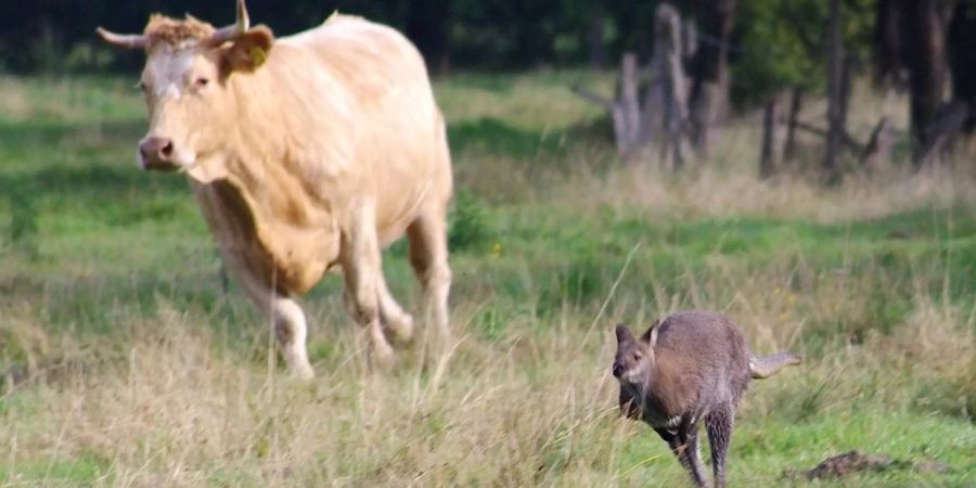
[[[595,63],[614,67],[625,50],[644,59],[653,49],[658,1],[620,0],[274,0],[247,2],[255,23],[280,35],[306,29],[335,10],[403,30],[435,70],[448,66],[513,69]],[[699,2],[672,2],[689,21]],[[733,42],[733,88],[753,99],[784,86],[822,85],[826,3],[818,0],[739,2]],[[231,0],[41,0],[0,2],[0,69],[11,72],[136,68],[141,56],[102,47],[98,25],[141,31],[151,12],[192,13],[214,24],[233,21]],[[846,42],[865,60],[873,27],[873,1],[844,2]],[[709,33],[703,33],[708,35]]]

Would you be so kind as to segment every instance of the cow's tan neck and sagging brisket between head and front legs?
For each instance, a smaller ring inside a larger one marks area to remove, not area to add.
[[[301,136],[290,131],[280,99],[245,99],[274,93],[270,76],[241,76],[229,82],[236,90],[236,120],[228,121],[227,143],[218,165],[219,178],[200,181],[211,229],[236,249],[253,242],[247,262],[268,269],[264,278],[290,293],[305,293],[338,255],[338,235],[331,209],[311,194],[296,170],[295,146]],[[196,178],[194,178],[196,179]],[[234,251],[236,252],[236,251]],[[273,277],[273,278],[268,278]]]

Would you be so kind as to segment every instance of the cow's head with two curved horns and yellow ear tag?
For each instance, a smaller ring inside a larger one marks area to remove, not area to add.
[[[274,42],[270,29],[248,24],[244,0],[237,0],[236,23],[220,29],[189,15],[179,21],[158,14],[141,35],[98,28],[106,42],[146,53],[139,82],[150,117],[139,142],[144,169],[190,170],[220,153],[237,118],[228,80],[258,69]]]

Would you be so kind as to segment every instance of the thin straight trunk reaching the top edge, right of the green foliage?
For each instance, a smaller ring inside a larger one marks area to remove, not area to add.
[[[827,21],[827,139],[823,169],[829,183],[840,177],[844,138],[844,46],[840,39],[840,0],[831,0]]]

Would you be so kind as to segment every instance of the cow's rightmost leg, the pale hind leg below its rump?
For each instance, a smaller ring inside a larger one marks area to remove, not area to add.
[[[424,319],[436,324],[440,338],[450,337],[448,294],[451,268],[448,266],[447,222],[444,205],[427,205],[407,228],[410,265],[424,288]]]

